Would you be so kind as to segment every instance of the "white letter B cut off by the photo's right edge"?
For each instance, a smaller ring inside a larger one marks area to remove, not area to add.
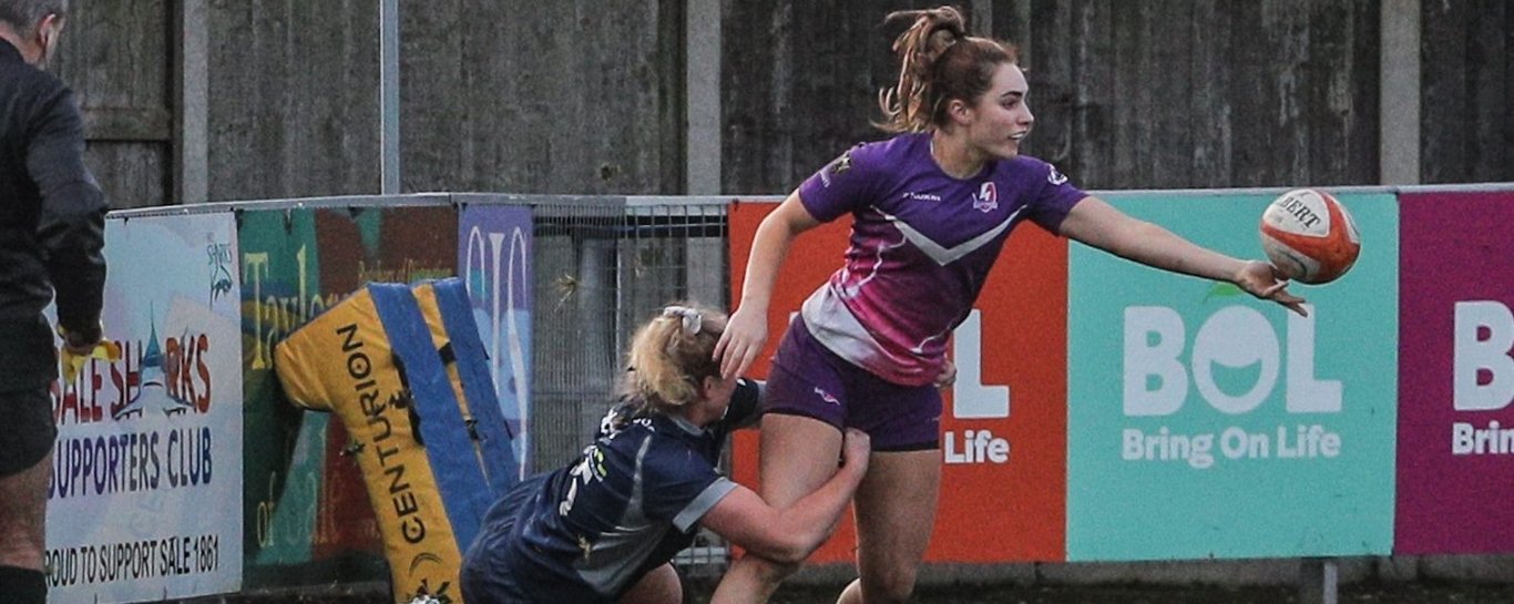
[[[1487,412],[1514,403],[1514,313],[1491,300],[1456,303],[1452,404]]]

